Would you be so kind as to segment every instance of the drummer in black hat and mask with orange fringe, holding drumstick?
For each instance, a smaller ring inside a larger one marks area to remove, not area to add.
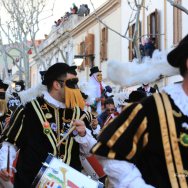
[[[8,146],[10,169],[15,153],[20,149],[15,188],[31,186],[48,153],[62,158],[66,164],[80,171],[80,147],[89,150],[96,142],[88,130],[91,117],[89,113],[82,111],[84,101],[75,87],[77,80],[69,79],[69,68],[65,63],[52,65],[42,82],[48,91],[24,107],[20,106],[15,111],[8,129],[1,136],[0,177],[5,181],[10,179],[6,170]],[[86,116],[81,121],[79,119],[83,114]],[[57,147],[61,136],[65,136],[69,131],[72,120],[76,130]]]

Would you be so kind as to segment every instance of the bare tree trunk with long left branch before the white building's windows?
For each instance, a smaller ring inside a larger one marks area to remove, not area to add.
[[[140,11],[141,11],[141,9],[142,8],[146,8],[147,9],[147,7],[144,7],[144,0],[141,0],[141,2],[139,0],[132,0],[132,2],[130,0],[127,0],[127,2],[128,2],[128,5],[130,6],[130,8],[132,9],[132,13],[131,13],[131,16],[130,16],[130,19],[129,19],[129,22],[128,22],[125,34],[121,34],[118,31],[116,31],[115,29],[113,29],[110,26],[108,26],[106,23],[104,23],[99,18],[99,16],[96,13],[96,10],[94,8],[93,2],[92,2],[92,0],[90,0],[90,3],[91,3],[91,5],[92,5],[92,7],[94,9],[94,14],[95,14],[96,19],[100,23],[102,23],[103,25],[105,25],[105,27],[107,27],[112,32],[116,33],[120,37],[123,37],[123,38],[131,41],[133,43],[133,46],[134,46],[136,57],[138,58],[139,63],[141,63],[141,55],[140,55],[140,50],[139,50],[139,36],[138,36],[139,18],[140,18]],[[130,24],[132,22],[134,22],[134,21],[135,21],[135,30],[134,30],[134,33],[133,33],[133,37],[130,38],[130,37],[127,37],[127,32],[129,30]]]

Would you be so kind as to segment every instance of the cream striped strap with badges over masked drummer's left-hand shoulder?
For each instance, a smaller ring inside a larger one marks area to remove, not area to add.
[[[37,114],[37,116],[38,116],[38,118],[39,118],[39,120],[41,122],[41,125],[43,127],[43,131],[45,133],[44,123],[47,122],[47,119],[46,119],[46,117],[45,117],[45,115],[44,115],[44,113],[43,113],[43,111],[42,111],[42,109],[41,109],[38,101],[33,100],[33,101],[31,101],[31,104],[33,105],[33,108],[35,109],[35,112],[36,112],[36,114]],[[57,155],[57,148],[56,148],[56,144],[57,144],[56,142],[57,141],[56,141],[56,137],[55,137],[55,135],[54,135],[51,127],[49,127],[48,130],[49,130],[49,132],[45,133],[45,134],[48,137],[48,140],[50,141],[50,143],[52,145],[52,148],[54,150],[53,151],[53,155],[56,156]]]

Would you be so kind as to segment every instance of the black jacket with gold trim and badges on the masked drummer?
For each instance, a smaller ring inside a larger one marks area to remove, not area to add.
[[[71,120],[80,118],[84,113],[80,109],[55,108],[43,97],[16,109],[1,138],[1,141],[8,141],[20,148],[15,187],[30,187],[48,153],[61,157],[68,165],[81,170],[79,144],[74,140],[76,132],[60,148],[56,144],[62,138],[60,133],[68,132]],[[84,122],[89,129],[90,121],[87,113]],[[42,122],[48,123],[44,125]]]

